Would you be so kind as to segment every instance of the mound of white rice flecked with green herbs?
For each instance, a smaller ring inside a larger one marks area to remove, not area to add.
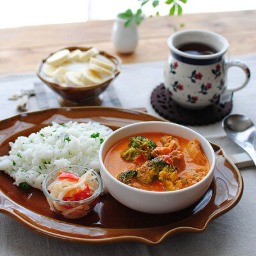
[[[97,132],[99,136],[92,138]],[[99,172],[99,148],[102,139],[111,132],[109,127],[95,122],[52,123],[28,137],[20,136],[15,143],[10,142],[10,155],[0,157],[0,170],[13,177],[15,185],[28,182],[38,189],[42,189],[48,173],[70,164]]]

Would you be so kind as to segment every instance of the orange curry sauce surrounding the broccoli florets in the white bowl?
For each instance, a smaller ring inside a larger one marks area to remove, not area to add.
[[[172,181],[168,181],[168,184],[165,180],[159,179],[154,179],[152,180],[152,182],[145,184],[144,182],[141,182],[141,180],[136,179],[136,177],[132,177],[131,182],[129,182],[128,184],[129,186],[149,191],[172,191],[196,184],[198,181],[204,179],[205,175],[207,175],[207,173],[209,172],[209,160],[205,156],[202,148],[200,147],[199,141],[188,141],[179,136],[172,136],[170,134],[163,134],[159,132],[145,132],[138,135],[154,141],[157,148],[163,149],[163,147],[168,146],[169,148],[171,148],[170,150],[172,150],[172,152],[173,150],[177,151],[178,149],[182,157],[184,157],[185,164],[182,168],[180,168],[183,170],[179,170],[179,168],[177,168],[177,166],[179,166],[179,161],[172,161],[172,164],[174,166],[176,164],[175,167],[177,172],[174,173],[176,175],[175,179],[172,178]],[[104,165],[106,166],[106,169],[115,178],[118,178],[118,175],[120,175],[120,173],[132,169],[136,170],[140,168],[141,164],[143,164],[134,163],[133,161],[125,161],[122,158],[122,153],[125,152],[127,148],[129,148],[129,138],[131,137],[132,136],[129,136],[118,141],[115,145],[113,145],[113,147],[109,149],[108,153],[104,157]],[[178,141],[179,148],[173,148],[173,146],[169,145],[169,143],[164,144],[163,138],[166,137]],[[164,156],[166,157],[166,154]],[[149,160],[146,160],[144,165],[148,163],[147,161]],[[182,180],[182,182],[180,182],[180,180]]]

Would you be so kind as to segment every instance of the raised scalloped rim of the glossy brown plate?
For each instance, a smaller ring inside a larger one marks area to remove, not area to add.
[[[93,107],[72,107],[72,108],[48,108],[48,109],[43,109],[43,110],[39,110],[39,111],[31,111],[31,112],[26,112],[26,113],[21,113],[15,116],[12,116],[10,118],[6,118],[4,120],[0,120],[0,125],[3,124],[4,122],[8,122],[8,120],[20,120],[20,118],[26,118],[29,115],[33,115],[33,114],[37,114],[37,113],[42,113],[42,112],[51,112],[53,111],[54,113],[56,113],[56,111],[76,111],[76,109],[106,109],[106,110],[113,110],[113,111],[125,111],[128,113],[132,113],[135,115],[142,115],[142,116],[147,116],[148,118],[154,118],[157,120],[161,120],[164,122],[168,122],[168,120],[164,120],[163,118],[159,118],[158,116],[154,116],[154,115],[150,115],[148,113],[144,113],[141,111],[137,111],[134,109],[126,109],[126,108],[115,108],[115,107],[100,107],[100,106],[93,106]],[[88,118],[88,117],[85,117]],[[0,128],[1,130],[1,128]],[[216,145],[215,143],[211,143],[212,145],[220,148],[221,153],[223,154],[223,157],[225,157],[225,159],[228,161],[228,163],[230,163],[232,165],[232,167],[234,168],[234,170],[237,173],[237,177],[238,177],[238,188],[237,188],[237,193],[236,195],[232,198],[230,204],[225,205],[225,207],[220,207],[220,209],[212,212],[212,214],[207,218],[207,220],[204,223],[204,227],[202,228],[195,228],[195,227],[188,227],[188,226],[184,226],[184,227],[175,227],[172,228],[170,230],[168,230],[167,232],[164,232],[164,234],[161,235],[161,237],[159,237],[159,239],[157,239],[157,241],[153,241],[150,239],[147,239],[145,237],[142,236],[113,236],[113,237],[107,237],[107,238],[83,238],[83,237],[72,237],[72,236],[66,236],[63,234],[56,234],[55,232],[50,232],[48,230],[44,230],[43,228],[37,227],[35,224],[33,224],[33,220],[31,220],[31,222],[25,220],[24,218],[22,218],[22,216],[20,216],[19,214],[17,214],[17,212],[11,211],[10,209],[5,209],[4,207],[0,207],[0,212],[3,212],[4,214],[7,214],[8,216],[11,216],[13,219],[19,221],[19,223],[21,223],[22,225],[24,225],[25,227],[33,230],[34,232],[38,233],[38,234],[42,234],[46,237],[51,237],[54,239],[58,239],[61,241],[68,241],[70,243],[84,243],[84,244],[106,244],[106,243],[120,243],[120,242],[132,242],[132,241],[136,241],[136,242],[142,242],[145,244],[159,244],[161,243],[164,239],[166,239],[166,237],[171,236],[173,234],[176,233],[180,233],[180,232],[193,232],[193,233],[198,233],[198,232],[203,232],[209,225],[209,223],[214,220],[215,218],[217,218],[218,216],[224,214],[227,211],[230,211],[230,209],[232,209],[234,206],[236,206],[236,204],[239,202],[239,200],[241,199],[241,196],[243,195],[243,188],[244,188],[244,184],[243,184],[243,177],[241,176],[241,173],[239,172],[238,168],[235,166],[234,163],[232,163],[232,161],[228,158],[227,154],[225,153],[225,151],[223,150],[223,148],[221,148],[220,146]],[[1,191],[1,189],[0,189]],[[1,191],[1,193],[3,193]],[[4,193],[3,193],[4,195]],[[6,198],[8,198],[8,196],[4,195]],[[1,196],[0,196],[1,198]],[[13,202],[13,204],[19,205],[16,202],[14,202],[12,199],[8,198],[8,200],[10,200],[11,202]],[[19,205],[19,207],[22,207],[21,205]],[[26,207],[22,207],[24,209],[26,209]],[[31,211],[29,209],[27,209],[28,211]],[[38,214],[40,215],[40,214]],[[41,215],[43,216],[43,215]],[[44,218],[48,218],[45,217]],[[51,218],[48,218],[51,219]],[[62,223],[66,223],[64,221],[59,221],[59,220],[55,220],[52,219],[54,221],[58,221],[58,222],[62,222]],[[76,224],[76,226],[81,226],[84,227],[82,225]],[[160,226],[158,226],[160,227]],[[109,228],[100,228],[100,227],[90,227],[90,228],[99,228],[102,230],[107,230]],[[155,227],[157,228],[157,227]],[[113,228],[111,228],[113,229]],[[122,230],[131,230],[131,228],[121,228]],[[152,228],[147,227],[147,228],[132,228],[132,230],[136,230],[136,229],[140,229],[140,230],[150,230]]]

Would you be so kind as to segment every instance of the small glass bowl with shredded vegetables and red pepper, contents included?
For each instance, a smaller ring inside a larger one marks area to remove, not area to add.
[[[92,169],[65,166],[49,173],[42,188],[52,211],[76,219],[93,210],[102,191],[102,180]]]

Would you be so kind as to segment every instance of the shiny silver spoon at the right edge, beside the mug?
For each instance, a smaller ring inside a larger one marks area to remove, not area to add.
[[[252,120],[244,115],[229,115],[223,119],[222,127],[227,136],[252,157],[256,165],[256,152],[253,147],[256,129]]]

